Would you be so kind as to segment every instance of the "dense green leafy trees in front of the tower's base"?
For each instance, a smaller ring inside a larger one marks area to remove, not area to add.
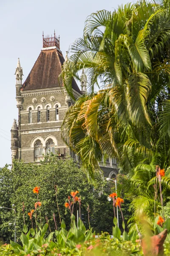
[[[28,212],[34,209],[37,202],[37,196],[33,193],[35,186],[40,186],[39,201],[42,203],[41,215],[42,224],[45,224],[47,216],[51,230],[54,230],[55,224],[53,214],[59,223],[59,214],[54,186],[57,185],[57,199],[61,218],[69,227],[69,210],[65,208],[65,202],[68,201],[68,195],[71,191],[78,190],[81,198],[81,213],[84,214],[86,227],[88,224],[88,205],[90,208],[90,225],[96,230],[96,233],[107,231],[112,233],[113,226],[113,206],[108,202],[107,197],[114,190],[106,189],[108,186],[99,173],[96,173],[97,186],[94,188],[88,183],[85,173],[78,168],[72,159],[64,161],[58,160],[56,156],[49,157],[41,165],[34,163],[24,164],[22,161],[14,161],[13,167],[5,166],[0,169],[0,206],[11,208],[15,204],[17,212],[17,239],[23,227],[23,202],[25,206],[26,224],[31,227]],[[99,196],[100,195],[100,196]],[[125,207],[125,209],[124,209]],[[77,216],[78,203],[74,207],[74,214]],[[123,212],[127,211],[127,205],[122,206]],[[119,212],[119,215],[120,212]],[[40,218],[40,216],[38,217]],[[33,218],[35,225],[35,221]],[[8,223],[12,223],[11,226]],[[14,212],[8,209],[0,209],[0,238],[4,242],[14,238]]]

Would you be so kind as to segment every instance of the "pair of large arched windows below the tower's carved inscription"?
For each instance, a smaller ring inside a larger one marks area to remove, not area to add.
[[[43,151],[43,145],[40,140],[37,140],[34,144],[34,156],[35,157],[41,157],[42,154],[44,153]],[[52,139],[49,139],[46,143],[46,154],[50,153],[55,154],[55,149],[54,149],[54,141]]]

